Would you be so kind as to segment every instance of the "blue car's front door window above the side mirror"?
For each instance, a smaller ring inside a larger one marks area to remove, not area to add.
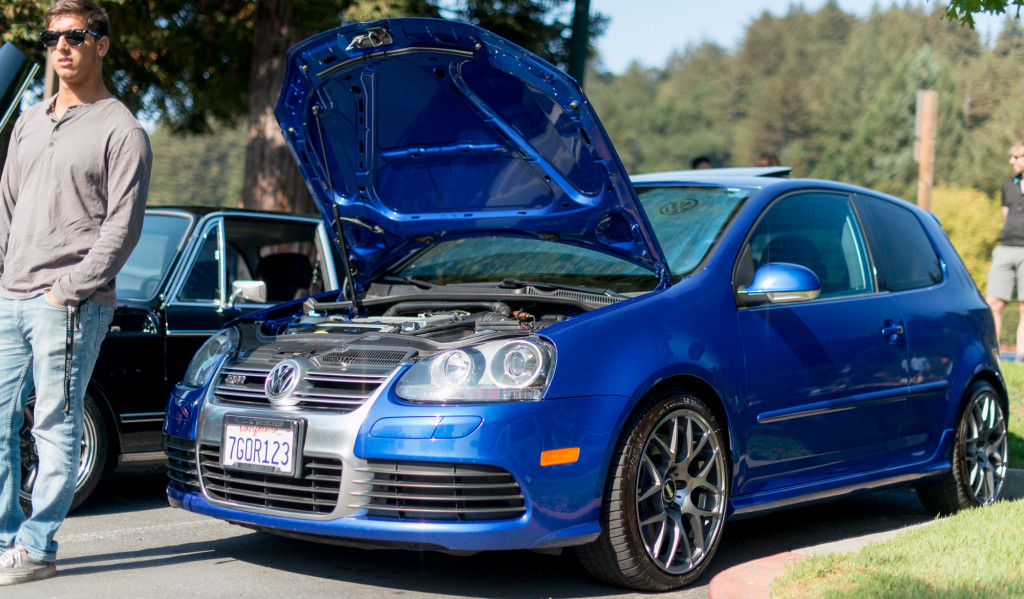
[[[873,291],[864,239],[845,195],[804,192],[775,202],[755,227],[741,256],[752,264],[737,269],[740,277],[753,276],[755,269],[768,262],[790,262],[818,275],[819,297]]]

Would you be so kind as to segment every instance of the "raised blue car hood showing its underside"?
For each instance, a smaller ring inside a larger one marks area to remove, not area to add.
[[[577,83],[480,28],[395,18],[314,36],[289,50],[275,114],[358,287],[426,245],[490,234],[671,279]]]

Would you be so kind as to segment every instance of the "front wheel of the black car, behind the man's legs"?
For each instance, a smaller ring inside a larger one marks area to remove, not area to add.
[[[39,466],[39,459],[36,455],[36,440],[32,436],[32,423],[34,422],[33,409],[36,404],[35,396],[29,397],[25,405],[25,424],[22,426],[22,488],[18,498],[22,501],[22,508],[26,514],[32,510],[32,487],[36,480],[36,471]],[[99,407],[92,399],[88,392],[85,393],[85,413],[82,421],[82,458],[79,461],[78,479],[75,481],[75,499],[72,500],[71,509],[74,510],[82,505],[103,475],[103,468],[106,466],[108,436],[106,421],[103,419]]]

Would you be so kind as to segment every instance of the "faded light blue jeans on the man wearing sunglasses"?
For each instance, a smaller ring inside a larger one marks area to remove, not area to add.
[[[82,445],[85,388],[106,336],[114,308],[86,301],[75,330],[71,410],[65,414],[68,312],[44,295],[0,298],[0,547],[20,545],[30,556],[56,558],[53,536],[75,496]],[[25,403],[36,390],[33,435],[39,467],[32,488],[32,515],[18,503],[22,453],[18,432]]]

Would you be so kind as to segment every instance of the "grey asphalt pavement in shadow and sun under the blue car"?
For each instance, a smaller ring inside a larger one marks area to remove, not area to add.
[[[1013,473],[1007,495],[1024,497],[1024,476]],[[0,587],[0,599],[644,599],[587,575],[572,555],[527,551],[455,556],[437,552],[365,551],[255,532],[172,509],[163,474],[103,480],[57,532],[57,576]],[[739,595],[758,597],[734,572],[777,564],[811,551],[856,549],[907,526],[929,522],[908,487],[730,521],[708,570],[672,599],[705,599],[723,581],[742,581]],[[784,565],[784,563],[783,563]],[[772,574],[774,575],[774,574]],[[762,597],[767,595],[761,595]]]

